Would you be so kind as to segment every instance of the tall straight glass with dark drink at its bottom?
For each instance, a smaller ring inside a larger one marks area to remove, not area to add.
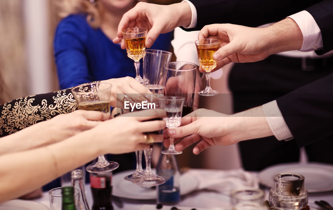
[[[194,88],[197,65],[184,61],[174,61],[166,65],[166,96],[184,97],[182,117],[193,111]]]

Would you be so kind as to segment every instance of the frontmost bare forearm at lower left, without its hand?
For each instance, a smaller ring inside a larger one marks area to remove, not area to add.
[[[0,203],[37,189],[96,158],[99,151],[91,143],[92,138],[81,134],[47,147],[0,156]]]

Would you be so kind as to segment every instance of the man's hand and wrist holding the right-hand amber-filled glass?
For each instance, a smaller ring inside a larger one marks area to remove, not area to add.
[[[298,50],[303,44],[302,32],[291,18],[265,28],[233,24],[207,25],[198,35],[198,39],[205,38],[221,41],[221,48],[213,55],[218,61],[213,71],[230,62],[255,62],[278,52]],[[200,72],[204,71],[200,69]]]

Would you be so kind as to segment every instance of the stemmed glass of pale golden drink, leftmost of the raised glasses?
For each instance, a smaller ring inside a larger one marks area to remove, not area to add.
[[[78,109],[94,110],[111,114],[110,97],[111,84],[108,83],[87,83],[71,89]],[[98,157],[97,163],[87,166],[86,170],[91,173],[113,171],[119,167],[117,162],[107,161],[104,155]]]

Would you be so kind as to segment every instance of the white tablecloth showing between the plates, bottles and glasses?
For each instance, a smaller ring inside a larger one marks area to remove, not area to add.
[[[214,183],[214,178],[212,177],[220,177],[225,174],[230,175],[235,178],[235,174],[241,172],[237,170],[211,170],[211,169],[191,169],[190,173],[196,174],[197,178],[201,182],[199,184],[199,189],[184,195],[181,197],[181,201],[177,204],[177,207],[192,207],[192,208],[214,208],[219,207],[217,209],[226,209],[229,205],[229,195],[227,191],[217,191],[216,189],[212,189],[213,185],[217,186],[218,184],[225,183]],[[246,176],[244,180],[251,180],[249,174],[254,179],[254,186],[258,186],[258,173],[248,173],[245,172]],[[230,178],[228,176],[224,176],[224,178]],[[237,177],[236,177],[237,178]],[[229,179],[230,180],[230,179]],[[207,183],[214,183],[213,185],[207,185]],[[232,182],[232,181],[231,181]],[[244,182],[244,185],[247,185],[247,182]],[[209,187],[210,186],[210,187]],[[92,206],[92,195],[90,186],[85,186],[86,196],[88,203]],[[269,189],[265,188],[265,199],[268,199]],[[319,192],[319,193],[309,193],[309,206],[314,206],[314,201],[316,200],[325,200],[331,204],[333,204],[333,191],[329,192]],[[48,192],[44,192],[41,198],[35,199],[35,201],[43,203],[47,206],[50,206]],[[134,200],[134,199],[126,199],[126,198],[113,198],[113,206],[115,210],[125,209],[125,210],[140,210],[145,204],[154,204],[156,205],[156,200]]]

